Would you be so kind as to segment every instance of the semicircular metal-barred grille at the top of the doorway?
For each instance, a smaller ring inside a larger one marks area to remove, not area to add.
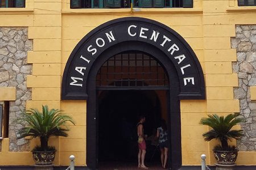
[[[97,87],[168,86],[162,66],[141,53],[118,54],[102,65],[97,74]]]

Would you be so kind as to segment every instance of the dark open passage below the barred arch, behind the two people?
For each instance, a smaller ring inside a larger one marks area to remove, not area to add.
[[[98,124],[98,159],[101,162],[137,162],[136,124],[145,114],[145,134],[153,135],[159,125],[161,105],[155,91],[100,91]],[[154,161],[154,145],[148,143],[147,160]],[[155,152],[158,154],[158,152]],[[154,159],[151,159],[151,156]],[[101,166],[100,166],[101,167]],[[114,167],[113,167],[114,168]],[[101,169],[101,168],[100,168]]]

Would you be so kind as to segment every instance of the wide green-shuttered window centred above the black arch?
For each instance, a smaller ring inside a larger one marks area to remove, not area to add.
[[[192,0],[71,0],[71,8],[193,7]]]

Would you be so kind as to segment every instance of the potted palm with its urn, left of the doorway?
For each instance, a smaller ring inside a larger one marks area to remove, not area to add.
[[[55,158],[55,148],[48,146],[49,137],[62,136],[67,137],[67,122],[72,118],[61,113],[58,109],[48,109],[47,105],[42,106],[42,113],[36,109],[31,109],[22,113],[16,122],[23,126],[18,130],[17,139],[32,136],[40,138],[40,146],[32,150],[36,165],[51,165]]]

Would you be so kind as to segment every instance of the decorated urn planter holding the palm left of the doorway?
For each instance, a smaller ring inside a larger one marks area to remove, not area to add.
[[[32,151],[33,159],[36,165],[52,165],[55,158],[55,152],[53,151]]]

